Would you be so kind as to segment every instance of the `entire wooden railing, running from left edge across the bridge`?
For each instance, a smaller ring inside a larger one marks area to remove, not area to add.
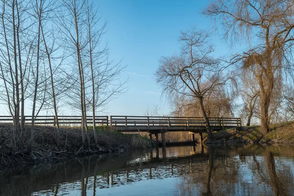
[[[31,116],[25,116],[25,123],[30,124]],[[81,124],[81,116],[58,116],[61,126],[78,126]],[[155,116],[96,116],[98,125],[111,127],[118,126],[204,126],[204,120],[200,117],[155,117]],[[211,126],[242,126],[240,118],[209,118]],[[11,116],[0,116],[0,123],[13,123]],[[37,116],[34,124],[55,125],[55,116]],[[87,116],[87,124],[93,125],[93,117]]]

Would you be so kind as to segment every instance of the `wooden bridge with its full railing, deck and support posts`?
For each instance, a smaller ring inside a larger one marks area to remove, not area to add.
[[[81,125],[81,120],[81,116],[58,116],[60,126]],[[25,123],[30,124],[31,121],[31,116],[25,116]],[[13,123],[13,119],[11,116],[0,116],[0,123]],[[165,146],[165,133],[168,131],[189,131],[192,141],[195,141],[195,133],[198,133],[202,140],[202,133],[206,132],[201,117],[97,116],[95,123],[124,133],[147,132],[150,139],[154,134],[156,146],[158,146],[158,133],[161,133],[162,145]],[[240,118],[209,118],[209,123],[214,131],[242,126]],[[34,124],[55,125],[55,116],[37,116]],[[93,125],[92,116],[87,116],[87,124]]]

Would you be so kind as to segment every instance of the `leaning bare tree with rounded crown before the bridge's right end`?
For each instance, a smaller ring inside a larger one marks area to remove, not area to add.
[[[205,98],[230,77],[223,76],[220,59],[212,57],[214,48],[206,31],[192,28],[182,32],[178,55],[162,57],[155,76],[171,102],[179,96],[197,99],[205,122],[208,139],[213,139]]]

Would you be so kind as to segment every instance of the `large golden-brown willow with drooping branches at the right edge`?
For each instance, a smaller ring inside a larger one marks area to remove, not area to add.
[[[203,13],[221,22],[226,37],[236,41],[246,39],[247,48],[236,54],[234,60],[243,61],[243,69],[256,67],[261,129],[264,134],[268,133],[274,86],[282,77],[286,79],[283,73],[290,70],[293,62],[294,1],[215,0]],[[241,36],[244,39],[240,39]]]

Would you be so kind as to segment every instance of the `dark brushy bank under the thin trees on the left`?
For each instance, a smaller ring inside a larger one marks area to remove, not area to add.
[[[56,137],[54,127],[35,126],[33,151],[30,152],[28,150],[30,126],[25,127],[21,139],[16,142],[12,134],[12,124],[0,124],[0,166],[151,147],[151,142],[145,137],[123,134],[107,127],[98,128],[99,147],[97,147],[93,129],[91,127],[89,129],[90,148],[83,147],[80,128],[63,127]]]

